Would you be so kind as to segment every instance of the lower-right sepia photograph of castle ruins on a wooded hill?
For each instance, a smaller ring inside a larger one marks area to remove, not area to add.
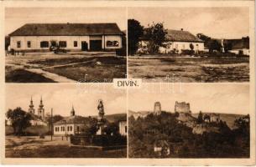
[[[248,84],[144,90],[128,91],[129,158],[250,158]]]

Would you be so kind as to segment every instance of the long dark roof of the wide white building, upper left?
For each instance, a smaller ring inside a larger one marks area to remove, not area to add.
[[[10,36],[123,35],[117,23],[27,23]]]

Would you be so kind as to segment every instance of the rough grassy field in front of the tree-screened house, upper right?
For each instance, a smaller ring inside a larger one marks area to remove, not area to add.
[[[129,58],[133,78],[158,78],[175,75],[181,82],[248,82],[249,58]],[[169,80],[169,82],[173,82]]]

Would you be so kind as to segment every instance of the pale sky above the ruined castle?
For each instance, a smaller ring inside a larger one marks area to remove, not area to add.
[[[249,85],[246,83],[189,83],[130,89],[128,109],[153,111],[159,101],[162,110],[174,112],[175,101],[191,104],[191,112],[249,114]],[[154,91],[152,91],[154,90]]]

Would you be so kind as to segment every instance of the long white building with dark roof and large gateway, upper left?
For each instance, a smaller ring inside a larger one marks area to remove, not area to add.
[[[122,48],[123,32],[116,23],[28,23],[9,36],[17,51],[107,51]]]

